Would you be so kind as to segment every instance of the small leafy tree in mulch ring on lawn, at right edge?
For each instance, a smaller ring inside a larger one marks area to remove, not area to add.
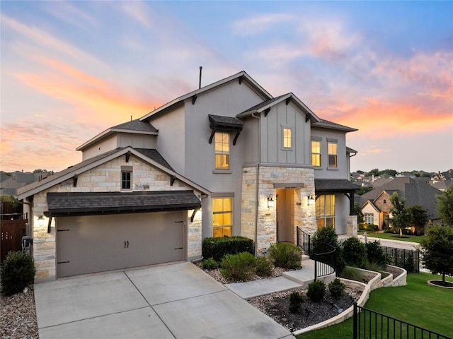
[[[453,275],[453,228],[430,227],[421,245],[423,264],[431,273],[442,274],[442,281],[445,283],[445,275]]]

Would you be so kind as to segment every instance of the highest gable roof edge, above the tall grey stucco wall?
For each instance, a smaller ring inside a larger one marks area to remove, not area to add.
[[[217,88],[217,87],[224,85],[226,83],[229,83],[231,81],[239,81],[239,83],[243,83],[243,82],[247,83],[253,90],[255,90],[256,93],[258,93],[258,95],[263,97],[263,99],[265,99],[265,100],[273,97],[272,95],[270,95],[270,93],[268,93],[267,90],[265,90],[256,81],[254,81],[253,78],[251,78],[251,76],[249,76],[246,73],[246,71],[240,71],[239,73],[236,73],[233,76],[229,76],[222,80],[216,81],[215,83],[211,83],[210,85],[206,85],[202,88],[198,88],[197,90],[193,90],[190,93],[177,97],[176,99],[171,100],[171,102],[167,102],[165,105],[163,105],[157,109],[154,109],[154,111],[151,111],[148,114],[144,115],[139,120],[144,121],[144,120],[152,119],[152,117],[154,117],[154,116],[163,114],[167,109],[169,109],[173,106],[182,104],[185,100],[189,99],[190,97],[192,97],[192,98],[195,97],[195,100],[196,100],[197,95],[200,95],[207,91],[213,90],[214,88]]]

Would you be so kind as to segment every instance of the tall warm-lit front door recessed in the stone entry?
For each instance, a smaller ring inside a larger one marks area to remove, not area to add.
[[[294,189],[277,189],[277,242],[294,244]]]

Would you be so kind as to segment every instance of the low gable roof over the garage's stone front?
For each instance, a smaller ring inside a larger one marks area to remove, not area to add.
[[[157,150],[150,151],[150,150],[143,150],[143,149],[134,149],[130,146],[125,148],[116,148],[115,150],[110,150],[105,152],[101,155],[97,155],[96,157],[91,157],[86,159],[82,162],[74,166],[70,166],[67,169],[63,169],[61,172],[57,172],[50,177],[42,179],[40,182],[35,182],[33,184],[23,186],[21,189],[18,189],[18,200],[22,200],[23,198],[27,198],[28,196],[33,196],[33,194],[37,194],[40,191],[44,191],[45,189],[49,189],[52,186],[55,186],[61,182],[64,182],[68,179],[73,178],[75,175],[84,173],[94,167],[98,167],[99,165],[104,164],[110,160],[113,160],[121,155],[125,155],[129,153],[138,157],[139,159],[143,160],[144,162],[149,163],[149,165],[160,169],[162,172],[165,172],[168,175],[174,176],[176,179],[180,180],[184,184],[196,189],[197,191],[202,192],[202,194],[210,195],[210,191],[205,189],[204,187],[195,184],[190,179],[183,177],[182,175],[176,173],[171,169],[171,166],[168,165],[168,162],[160,155]]]

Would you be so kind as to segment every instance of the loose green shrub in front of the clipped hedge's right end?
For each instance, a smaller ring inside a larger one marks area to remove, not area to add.
[[[235,281],[246,281],[256,273],[256,258],[248,252],[226,254],[222,258],[220,267],[220,273],[225,278]]]

